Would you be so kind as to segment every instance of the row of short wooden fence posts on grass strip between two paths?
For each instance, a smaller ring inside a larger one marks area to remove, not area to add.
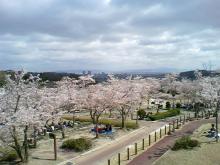
[[[175,129],[180,128],[181,125],[184,125],[191,119],[192,118],[190,116],[190,113],[187,115],[179,116],[169,124],[157,129],[156,131],[147,135],[142,140],[136,141],[133,145],[124,148],[118,154],[112,156],[111,159],[108,159],[107,161],[108,165],[122,165],[128,163],[129,160],[133,159],[138,154],[141,154],[153,144],[155,144],[171,132],[174,132]]]

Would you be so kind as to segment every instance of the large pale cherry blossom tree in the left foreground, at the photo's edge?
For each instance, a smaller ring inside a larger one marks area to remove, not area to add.
[[[54,102],[48,104],[51,97],[46,97],[39,76],[25,77],[22,71],[8,76],[5,92],[0,96],[1,123],[4,124],[1,140],[14,148],[23,162],[28,161],[28,129],[44,125],[54,111]],[[23,146],[19,140],[22,130]]]

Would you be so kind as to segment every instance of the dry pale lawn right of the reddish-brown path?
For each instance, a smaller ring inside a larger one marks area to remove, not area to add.
[[[210,128],[211,123],[204,124],[191,136],[201,142],[200,147],[192,150],[169,150],[154,165],[219,165],[220,142],[216,143],[214,138],[207,138],[203,134]]]

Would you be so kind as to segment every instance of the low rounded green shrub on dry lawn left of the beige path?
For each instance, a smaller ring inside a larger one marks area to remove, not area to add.
[[[68,139],[65,140],[61,146],[63,149],[70,149],[76,152],[88,150],[92,147],[92,142],[86,138]]]

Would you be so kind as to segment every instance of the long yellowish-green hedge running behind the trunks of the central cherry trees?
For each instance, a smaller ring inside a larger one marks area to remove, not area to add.
[[[73,117],[71,115],[66,115],[66,116],[63,116],[62,118],[65,120],[73,120]],[[79,122],[92,122],[92,119],[90,116],[75,117],[75,120]],[[104,124],[104,125],[111,124],[114,127],[121,127],[121,120],[118,120],[118,119],[101,118],[99,120],[99,123]],[[125,121],[125,125],[126,125],[126,128],[130,128],[130,129],[138,128],[138,125],[136,124],[136,121],[134,120]]]

